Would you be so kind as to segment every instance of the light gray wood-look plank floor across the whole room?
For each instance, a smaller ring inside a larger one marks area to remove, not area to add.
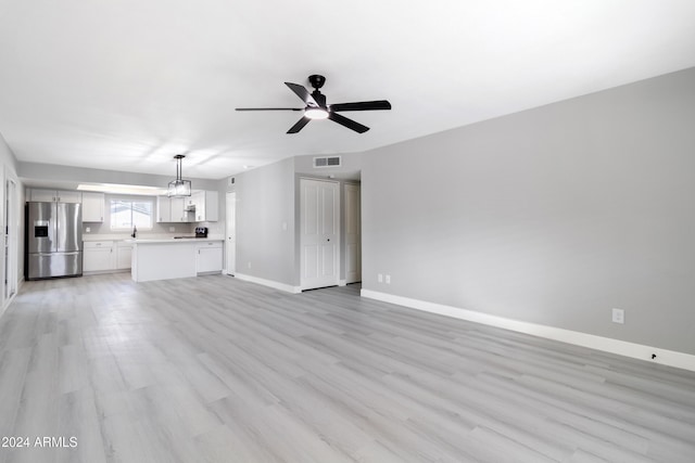
[[[27,282],[0,319],[0,436],[29,447],[0,461],[695,462],[695,373],[358,294]]]

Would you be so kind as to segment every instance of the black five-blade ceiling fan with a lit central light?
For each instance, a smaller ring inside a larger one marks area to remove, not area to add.
[[[314,74],[308,76],[308,81],[314,88],[308,92],[304,86],[292,82],[285,82],[305,104],[305,107],[237,107],[237,111],[303,111],[304,116],[294,124],[288,133],[296,133],[312,119],[330,119],[343,127],[348,127],[357,133],[364,133],[369,127],[363,126],[338,113],[343,111],[376,111],[391,110],[391,103],[387,100],[361,101],[356,103],[326,104],[326,95],[320,92],[320,88],[326,82],[326,77]]]

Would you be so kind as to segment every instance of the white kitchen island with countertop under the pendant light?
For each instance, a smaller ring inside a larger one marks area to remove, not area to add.
[[[130,275],[144,282],[222,272],[222,239],[128,240],[132,244]]]

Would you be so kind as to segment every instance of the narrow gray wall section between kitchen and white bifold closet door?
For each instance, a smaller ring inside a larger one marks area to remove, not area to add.
[[[249,170],[236,181],[237,272],[295,285],[294,159]]]

